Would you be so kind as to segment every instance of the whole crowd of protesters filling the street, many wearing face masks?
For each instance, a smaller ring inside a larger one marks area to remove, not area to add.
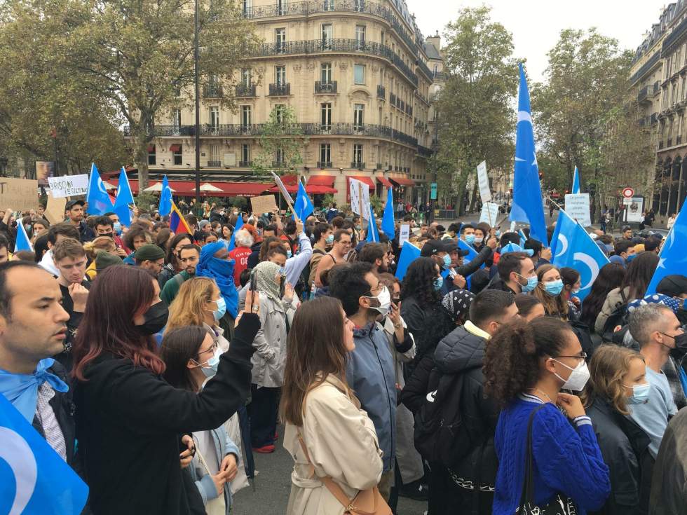
[[[290,515],[685,512],[687,277],[647,294],[659,235],[594,233],[611,262],[580,301],[526,228],[405,214],[368,242],[336,205],[182,204],[175,234],[86,207],[0,212],[0,392],[86,513],[241,513],[279,441]],[[11,252],[18,224],[34,252]]]

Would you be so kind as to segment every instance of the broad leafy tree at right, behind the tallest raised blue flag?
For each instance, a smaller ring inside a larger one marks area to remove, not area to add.
[[[564,190],[578,167],[580,186],[592,193],[598,216],[605,196],[617,189],[613,177],[622,172],[620,163],[646,160],[648,135],[635,127],[627,99],[632,52],[596,29],[566,29],[548,56],[545,82],[532,88],[537,141]],[[613,148],[630,141],[634,149]],[[547,180],[549,172],[543,172]]]

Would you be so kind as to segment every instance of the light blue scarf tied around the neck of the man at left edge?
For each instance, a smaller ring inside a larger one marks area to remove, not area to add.
[[[54,373],[48,372],[55,359],[46,357],[41,359],[34,373],[11,373],[0,369],[0,392],[10,401],[24,416],[29,424],[34,421],[36,402],[38,401],[38,389],[43,383],[48,384],[57,392],[67,392],[67,383]]]

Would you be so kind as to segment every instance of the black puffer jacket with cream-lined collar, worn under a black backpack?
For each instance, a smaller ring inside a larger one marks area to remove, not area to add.
[[[494,486],[498,460],[494,450],[494,433],[498,408],[484,395],[484,338],[457,327],[439,342],[434,354],[437,368],[444,374],[464,374],[461,416],[470,434],[468,454],[452,472],[459,478]]]

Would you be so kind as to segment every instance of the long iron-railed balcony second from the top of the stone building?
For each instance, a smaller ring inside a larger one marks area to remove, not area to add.
[[[407,80],[417,87],[417,75],[386,45],[357,39],[309,39],[301,41],[283,41],[278,43],[261,43],[252,57],[273,57],[275,55],[299,55],[320,53],[362,53],[382,57],[394,64]]]

